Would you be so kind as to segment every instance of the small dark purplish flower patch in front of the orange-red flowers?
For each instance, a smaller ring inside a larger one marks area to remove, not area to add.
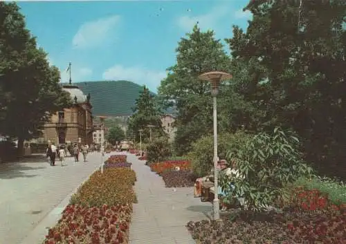
[[[161,173],[166,187],[193,187],[197,177],[191,171],[165,171]]]

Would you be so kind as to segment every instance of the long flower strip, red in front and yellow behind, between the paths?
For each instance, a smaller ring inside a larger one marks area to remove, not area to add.
[[[136,174],[128,168],[93,173],[72,196],[57,225],[49,229],[44,244],[129,243],[135,181]]]

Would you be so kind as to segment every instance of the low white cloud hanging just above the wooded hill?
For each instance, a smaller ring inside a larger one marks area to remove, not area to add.
[[[159,86],[161,79],[167,75],[162,71],[150,71],[140,66],[124,67],[121,65],[115,65],[104,71],[103,79],[119,80],[125,79],[137,84],[145,84],[150,91],[156,92],[156,88]]]

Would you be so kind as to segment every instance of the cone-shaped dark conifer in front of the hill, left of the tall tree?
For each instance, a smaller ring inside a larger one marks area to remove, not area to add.
[[[149,89],[144,86],[143,91],[140,91],[139,97],[136,99],[134,112],[129,118],[128,130],[129,134],[134,134],[136,140],[139,138],[138,131],[143,129],[143,138],[149,138],[149,128],[152,125],[152,133],[163,135],[163,128],[161,123],[161,109],[158,107],[154,96],[150,94]]]

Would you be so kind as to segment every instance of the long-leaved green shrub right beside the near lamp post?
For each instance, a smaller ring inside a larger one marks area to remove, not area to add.
[[[227,198],[242,196],[251,210],[262,210],[277,198],[286,198],[286,185],[311,173],[298,147],[297,138],[275,128],[272,135],[259,133],[240,149],[230,148],[228,159],[237,163],[245,180],[233,179],[235,189],[231,189],[231,179],[221,177],[220,186]]]

